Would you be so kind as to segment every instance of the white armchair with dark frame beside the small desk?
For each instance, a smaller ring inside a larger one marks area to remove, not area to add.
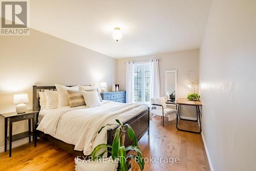
[[[164,117],[168,117],[168,121],[175,120],[177,117],[177,110],[167,108],[164,97],[152,98],[151,114],[161,116],[164,126]]]

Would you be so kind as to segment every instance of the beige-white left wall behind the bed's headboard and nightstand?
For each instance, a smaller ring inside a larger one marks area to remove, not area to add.
[[[28,93],[32,109],[33,84],[77,85],[116,82],[117,60],[45,33],[0,36],[0,113],[15,111],[13,94]],[[25,122],[26,123],[26,122]],[[27,124],[15,123],[13,134]],[[0,147],[4,145],[4,118],[0,117]]]

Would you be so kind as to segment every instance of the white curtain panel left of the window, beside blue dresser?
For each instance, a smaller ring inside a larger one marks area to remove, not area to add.
[[[134,102],[134,62],[126,62],[126,103]]]

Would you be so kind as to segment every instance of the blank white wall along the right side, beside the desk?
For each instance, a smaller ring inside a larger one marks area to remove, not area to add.
[[[214,0],[200,49],[204,138],[214,170],[256,170],[256,1]]]

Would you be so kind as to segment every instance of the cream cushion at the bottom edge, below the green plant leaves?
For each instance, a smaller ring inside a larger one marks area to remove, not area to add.
[[[104,162],[107,161],[107,162]],[[82,160],[75,158],[75,170],[76,171],[98,171],[108,170],[116,171],[118,167],[118,158],[112,160],[112,158],[99,159],[96,161]]]

